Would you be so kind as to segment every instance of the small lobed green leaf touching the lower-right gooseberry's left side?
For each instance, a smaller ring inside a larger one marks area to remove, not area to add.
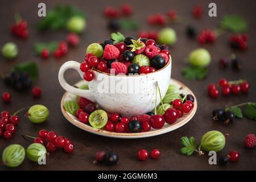
[[[195,150],[197,150],[198,144],[196,143],[196,140],[194,137],[181,137],[180,138],[181,144],[183,144],[184,147],[180,148],[180,152],[183,155],[190,156],[193,154]]]

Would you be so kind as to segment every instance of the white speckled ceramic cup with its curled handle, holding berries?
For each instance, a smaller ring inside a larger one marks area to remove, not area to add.
[[[94,78],[88,82],[89,90],[84,90],[75,88],[65,81],[64,72],[67,69],[76,69],[81,78],[84,78],[80,63],[67,61],[60,67],[59,82],[68,92],[97,102],[110,113],[120,113],[130,117],[147,113],[155,108],[156,84],[159,85],[162,98],[165,96],[171,77],[171,62],[170,56],[164,68],[134,76],[115,76],[93,70]],[[123,89],[124,86],[121,85],[126,85],[126,89]],[[157,92],[156,100],[156,105],[158,105],[160,103],[159,92]]]

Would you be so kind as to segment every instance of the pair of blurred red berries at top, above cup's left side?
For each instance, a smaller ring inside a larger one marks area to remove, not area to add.
[[[107,18],[118,18],[119,16],[130,16],[133,14],[133,7],[129,4],[122,5],[120,7],[120,10],[115,9],[112,6],[105,7],[104,9],[104,15]]]

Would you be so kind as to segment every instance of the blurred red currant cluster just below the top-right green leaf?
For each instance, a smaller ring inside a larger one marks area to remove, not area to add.
[[[247,34],[238,34],[232,35],[229,38],[230,46],[233,49],[245,50],[247,49],[248,35]]]

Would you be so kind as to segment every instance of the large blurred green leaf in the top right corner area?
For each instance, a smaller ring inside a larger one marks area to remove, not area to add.
[[[245,19],[239,15],[225,15],[220,21],[220,27],[233,33],[248,31],[248,25]]]

